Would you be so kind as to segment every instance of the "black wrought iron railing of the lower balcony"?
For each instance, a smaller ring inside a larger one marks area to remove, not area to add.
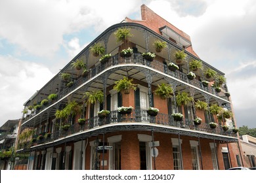
[[[187,118],[184,118],[181,122],[177,122],[173,120],[173,116],[169,114],[162,114],[158,113],[157,116],[150,116],[147,114],[146,110],[133,110],[131,114],[119,114],[117,110],[110,112],[106,118],[99,118],[98,116],[95,116],[93,118],[89,118],[88,120],[85,120],[85,124],[80,125],[78,123],[75,123],[73,125],[70,125],[68,130],[60,129],[59,131],[55,131],[54,133],[51,133],[51,137],[43,138],[41,140],[37,140],[36,142],[33,142],[32,144],[26,143],[25,146],[22,146],[22,148],[29,148],[30,146],[34,146],[37,144],[43,144],[44,142],[53,142],[57,139],[68,137],[69,135],[75,135],[76,133],[83,133],[87,131],[91,131],[93,129],[96,129],[96,127],[104,127],[104,125],[108,124],[125,124],[127,122],[141,125],[160,125],[161,127],[177,127],[178,129],[188,129],[190,133],[193,132],[206,132],[206,133],[213,133],[217,135],[226,135],[229,137],[236,137],[236,134],[232,132],[232,130],[224,131],[221,125],[217,125],[215,129],[211,129],[209,124],[206,124],[205,122],[202,122],[200,125],[194,125],[194,122],[192,120],[189,120]],[[141,129],[144,130],[144,129]],[[93,131],[91,131],[93,133]]]

